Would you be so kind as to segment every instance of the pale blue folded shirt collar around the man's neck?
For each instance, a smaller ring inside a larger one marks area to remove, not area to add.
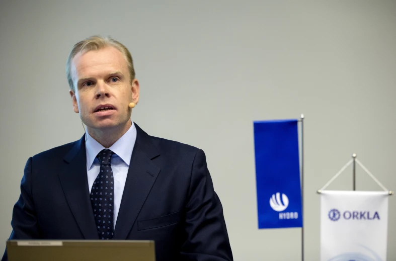
[[[91,169],[92,164],[99,152],[105,149],[102,144],[96,141],[91,135],[86,131],[86,155],[87,155],[87,168]],[[119,156],[128,166],[132,156],[132,150],[136,141],[136,127],[132,121],[132,126],[121,136],[111,147],[109,148],[117,156]]]

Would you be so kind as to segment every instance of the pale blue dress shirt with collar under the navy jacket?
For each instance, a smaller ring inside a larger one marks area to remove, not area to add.
[[[94,181],[100,171],[100,163],[96,157],[105,147],[97,142],[91,135],[86,131],[86,153],[87,153],[87,175],[88,175],[88,189],[91,189],[94,185]],[[132,156],[132,150],[136,141],[136,127],[132,122],[132,126],[129,128],[121,138],[119,138],[110,148],[115,154],[111,157],[111,169],[114,177],[114,225],[118,217],[118,211],[120,210],[121,198],[124,192],[126,176],[128,175],[129,163]]]

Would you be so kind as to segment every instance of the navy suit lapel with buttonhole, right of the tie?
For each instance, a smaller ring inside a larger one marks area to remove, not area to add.
[[[136,142],[133,148],[124,193],[121,199],[114,239],[125,240],[160,173],[152,159],[160,153],[150,137],[136,124]]]

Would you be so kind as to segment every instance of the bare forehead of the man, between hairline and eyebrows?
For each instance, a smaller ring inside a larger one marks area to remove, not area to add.
[[[109,46],[100,50],[78,53],[71,62],[73,78],[101,76],[110,71],[128,73],[122,53]]]

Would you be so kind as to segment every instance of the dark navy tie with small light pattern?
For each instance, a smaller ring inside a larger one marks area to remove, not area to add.
[[[101,239],[113,238],[114,178],[110,165],[113,154],[110,149],[99,152],[100,171],[91,190],[91,204]]]

